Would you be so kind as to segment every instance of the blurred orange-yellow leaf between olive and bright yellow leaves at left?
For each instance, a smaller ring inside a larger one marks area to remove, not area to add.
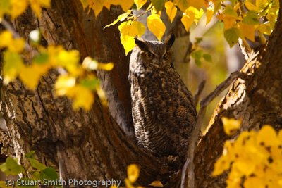
[[[47,73],[48,69],[48,65],[32,64],[30,66],[23,66],[20,71],[20,80],[30,89],[35,89],[40,77]]]

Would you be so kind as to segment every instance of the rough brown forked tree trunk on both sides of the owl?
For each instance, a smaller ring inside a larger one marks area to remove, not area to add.
[[[65,49],[78,49],[82,59],[92,56],[99,62],[114,62],[111,72],[97,70],[109,108],[96,96],[90,111],[73,110],[70,100],[52,92],[58,73],[50,70],[35,91],[18,79],[2,83],[1,113],[20,163],[26,162],[26,153],[35,150],[39,161],[60,170],[62,179],[80,180],[123,180],[126,167],[137,163],[140,184],[161,180],[174,187],[180,183],[179,169],[165,158],[142,151],[134,142],[127,81],[129,56],[123,53],[118,27],[103,30],[121,13],[120,6],[111,6],[111,11],[103,8],[94,17],[94,13],[83,11],[80,1],[52,1],[39,19],[28,8],[13,22],[16,32],[26,39],[30,31],[39,28],[44,46],[61,44]],[[224,175],[211,176],[223,143],[230,138],[223,132],[221,117],[242,118],[242,130],[259,129],[264,124],[281,129],[281,27],[279,11],[269,41],[249,58],[241,70],[244,79],[236,80],[216,107],[212,125],[196,149],[195,187],[225,187]],[[0,62],[3,67],[2,59]]]

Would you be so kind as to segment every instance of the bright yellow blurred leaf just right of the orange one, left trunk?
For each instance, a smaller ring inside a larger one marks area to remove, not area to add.
[[[60,75],[55,83],[56,94],[65,95],[68,91],[75,87],[75,77],[68,75]]]

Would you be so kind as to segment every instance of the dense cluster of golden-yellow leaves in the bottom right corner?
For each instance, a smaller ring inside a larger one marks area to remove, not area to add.
[[[240,120],[223,118],[224,130],[240,128]],[[233,132],[234,133],[234,132]],[[228,188],[282,186],[282,130],[278,133],[271,125],[261,130],[242,132],[237,139],[224,144],[222,156],[214,165],[212,175],[228,170]]]

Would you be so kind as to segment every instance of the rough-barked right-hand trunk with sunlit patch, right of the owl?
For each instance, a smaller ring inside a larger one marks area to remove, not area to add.
[[[281,4],[281,2],[280,2]],[[225,176],[212,177],[214,162],[222,153],[227,137],[221,118],[242,118],[243,130],[259,130],[262,125],[282,127],[282,10],[269,42],[257,57],[247,61],[241,72],[247,80],[238,79],[216,107],[210,128],[202,138],[195,156],[196,187],[225,187]]]

